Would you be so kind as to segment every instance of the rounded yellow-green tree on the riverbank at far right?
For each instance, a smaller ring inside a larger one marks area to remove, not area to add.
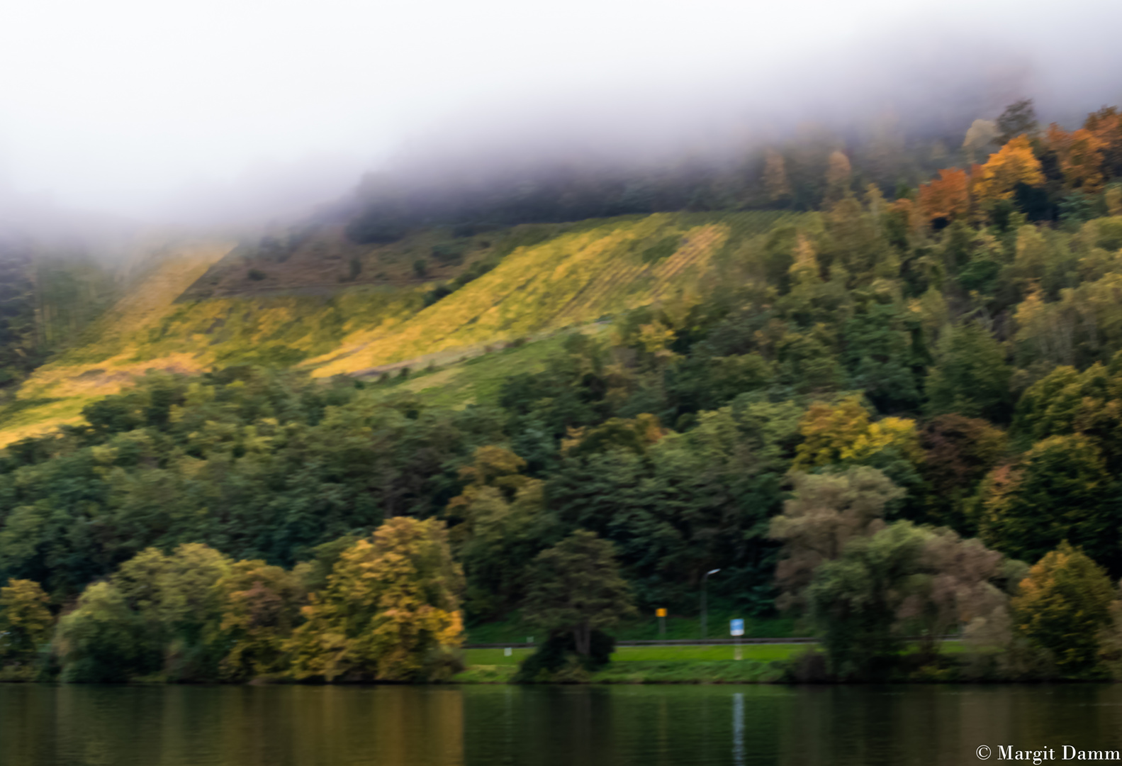
[[[1029,569],[1011,603],[1014,623],[1060,671],[1078,674],[1095,662],[1113,595],[1106,572],[1064,541]]]

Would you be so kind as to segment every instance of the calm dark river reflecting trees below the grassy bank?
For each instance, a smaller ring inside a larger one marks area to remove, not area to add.
[[[983,745],[1122,749],[1122,685],[0,685],[3,766],[903,766]]]

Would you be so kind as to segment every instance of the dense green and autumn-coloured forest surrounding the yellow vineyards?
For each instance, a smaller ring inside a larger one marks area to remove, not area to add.
[[[744,279],[572,332],[490,402],[427,405],[407,370],[150,374],[8,447],[6,672],[440,678],[461,620],[522,609],[590,656],[633,608],[692,613],[715,568],[745,615],[822,636],[835,677],[888,672],[908,636],[937,673],[948,632],[1005,649],[978,655],[1004,677],[1116,671],[1122,115],[1068,133],[1022,101],[954,152],[890,189],[875,153],[792,139],[739,188],[480,209],[369,180],[369,241],[809,212],[729,256]]]

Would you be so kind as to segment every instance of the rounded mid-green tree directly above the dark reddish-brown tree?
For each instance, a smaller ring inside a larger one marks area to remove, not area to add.
[[[939,338],[936,366],[927,382],[932,414],[957,412],[967,418],[1005,421],[1012,395],[1012,370],[1001,344],[981,325],[951,327]]]

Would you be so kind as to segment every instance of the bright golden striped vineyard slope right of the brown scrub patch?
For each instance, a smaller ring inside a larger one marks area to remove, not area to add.
[[[309,364],[315,375],[356,373],[696,294],[734,230],[743,236],[773,220],[767,213],[665,213],[589,222],[516,249],[494,271],[401,326],[353,332]]]

